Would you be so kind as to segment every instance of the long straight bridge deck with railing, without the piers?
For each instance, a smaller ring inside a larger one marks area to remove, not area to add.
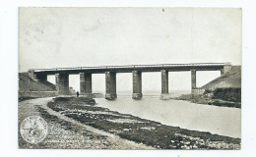
[[[75,67],[75,68],[53,68],[53,69],[34,69],[36,75],[55,75],[55,74],[104,74],[105,72],[131,73],[140,72],[169,72],[179,71],[220,71],[224,69],[224,63],[192,63],[192,64],[158,64],[158,65],[126,65],[126,66],[100,66],[100,67]]]

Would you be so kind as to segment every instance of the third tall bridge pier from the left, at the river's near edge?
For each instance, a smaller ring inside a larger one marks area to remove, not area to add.
[[[105,72],[105,99],[112,100],[116,95],[116,73]]]

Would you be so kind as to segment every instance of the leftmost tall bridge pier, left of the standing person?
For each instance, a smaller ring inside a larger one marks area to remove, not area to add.
[[[69,75],[55,74],[56,89],[59,95],[69,95]]]

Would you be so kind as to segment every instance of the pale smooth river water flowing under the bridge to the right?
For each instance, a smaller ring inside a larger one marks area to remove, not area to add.
[[[160,97],[144,96],[133,100],[119,96],[116,100],[96,98],[100,107],[124,114],[160,122],[163,125],[193,131],[210,131],[221,135],[240,137],[241,110],[190,103],[182,100],[160,100]]]

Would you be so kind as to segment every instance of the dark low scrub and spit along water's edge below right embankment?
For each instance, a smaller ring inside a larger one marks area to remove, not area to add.
[[[241,108],[241,88],[216,88],[205,90],[203,95],[183,94],[177,100],[188,100],[192,103],[208,104],[222,107]]]

